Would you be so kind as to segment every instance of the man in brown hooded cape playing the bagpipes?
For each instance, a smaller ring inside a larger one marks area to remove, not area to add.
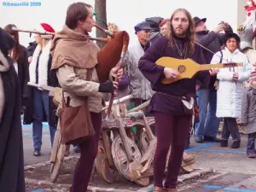
[[[55,34],[51,47],[52,70],[64,91],[65,101],[68,96],[70,106],[77,107],[87,100],[90,115],[84,114],[84,117],[90,116],[95,130],[94,136],[79,143],[80,158],[73,172],[71,192],[87,191],[102,129],[102,93],[113,93],[118,87],[116,81],[99,83],[96,71],[99,47],[87,35],[95,24],[91,8],[87,3],[71,4],[67,8],[65,25]],[[123,69],[115,67],[111,75],[114,73],[118,80]],[[90,80],[86,80],[87,75]]]

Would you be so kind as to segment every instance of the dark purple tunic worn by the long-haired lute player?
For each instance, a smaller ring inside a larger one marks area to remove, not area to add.
[[[180,39],[178,39],[180,40]],[[181,43],[184,43],[183,39]],[[183,102],[177,96],[195,96],[195,83],[197,80],[208,86],[209,72],[198,72],[192,79],[181,79],[172,84],[161,84],[164,78],[164,67],[155,64],[155,61],[162,56],[169,56],[181,59],[175,47],[168,46],[169,39],[161,37],[152,44],[138,63],[140,71],[146,79],[151,83],[155,92],[151,99],[149,110],[161,113],[169,113],[172,115],[191,115],[193,110],[188,110],[183,106]],[[187,54],[186,58],[198,62],[205,63],[204,55],[201,47],[195,44],[195,51],[191,55]]]

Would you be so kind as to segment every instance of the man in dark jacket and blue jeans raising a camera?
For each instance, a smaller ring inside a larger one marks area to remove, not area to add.
[[[223,44],[224,33],[221,31],[233,32],[231,26],[225,22],[219,23],[214,30],[209,31],[206,26],[207,18],[194,17],[193,20],[195,22],[196,42],[211,50],[213,54],[218,52]],[[206,64],[211,63],[213,56],[212,52],[207,49],[202,49]],[[199,122],[195,124],[195,142],[197,143],[204,143],[204,141],[220,142],[217,137],[220,119],[216,117],[217,91],[214,87],[216,77],[210,78],[209,76],[208,78],[210,79],[208,88],[201,82],[197,82],[196,95],[199,107]]]

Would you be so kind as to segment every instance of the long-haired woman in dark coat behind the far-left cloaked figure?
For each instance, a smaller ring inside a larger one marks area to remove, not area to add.
[[[15,61],[15,71],[18,73],[20,80],[20,91],[21,91],[21,105],[25,105],[28,102],[27,94],[27,82],[29,81],[28,73],[28,61],[26,55],[26,48],[20,44],[19,32],[12,30],[16,27],[14,24],[9,24],[4,27],[4,30],[9,33],[15,39],[15,47],[11,49],[10,56]]]

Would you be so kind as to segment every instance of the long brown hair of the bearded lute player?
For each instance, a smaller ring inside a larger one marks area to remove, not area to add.
[[[180,12],[180,11],[182,11],[188,17],[188,20],[189,20],[189,30],[187,32],[186,38],[189,40],[189,53],[193,54],[195,51],[195,23],[189,11],[187,9],[176,9],[173,12],[170,20],[172,22],[174,15],[176,15],[177,12]],[[171,23],[170,36],[168,38],[170,39],[168,46],[173,47],[174,46],[173,44],[174,29],[173,29],[172,23]]]

